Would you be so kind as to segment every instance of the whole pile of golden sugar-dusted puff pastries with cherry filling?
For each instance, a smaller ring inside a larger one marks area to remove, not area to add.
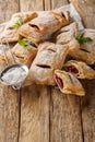
[[[14,43],[11,51],[17,63],[28,67],[27,84],[58,85],[63,94],[85,95],[80,79],[95,79],[95,29],[84,29],[76,40],[79,24],[68,11],[15,13],[0,34],[3,44]],[[8,60],[12,63],[10,52]],[[5,63],[4,55],[0,62]]]

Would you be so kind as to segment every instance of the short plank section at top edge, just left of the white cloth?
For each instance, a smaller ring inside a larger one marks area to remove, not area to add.
[[[68,4],[68,0],[51,0],[51,9],[57,9],[64,4]]]

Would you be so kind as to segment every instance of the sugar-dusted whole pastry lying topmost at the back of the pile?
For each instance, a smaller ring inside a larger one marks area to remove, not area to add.
[[[36,19],[24,24],[20,28],[20,34],[28,39],[40,42],[61,26],[70,23],[69,12],[60,13],[54,11],[46,11]]]

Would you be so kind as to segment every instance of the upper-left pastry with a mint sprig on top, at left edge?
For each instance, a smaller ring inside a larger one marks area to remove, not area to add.
[[[12,16],[11,21],[7,24],[3,32],[0,34],[0,39],[2,43],[13,43],[17,42],[21,38],[19,34],[19,28],[22,24],[35,19],[37,16],[36,12],[24,12],[24,13],[16,13]]]

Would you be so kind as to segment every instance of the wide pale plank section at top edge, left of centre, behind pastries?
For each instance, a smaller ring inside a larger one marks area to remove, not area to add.
[[[43,0],[20,0],[21,11],[44,10]]]

